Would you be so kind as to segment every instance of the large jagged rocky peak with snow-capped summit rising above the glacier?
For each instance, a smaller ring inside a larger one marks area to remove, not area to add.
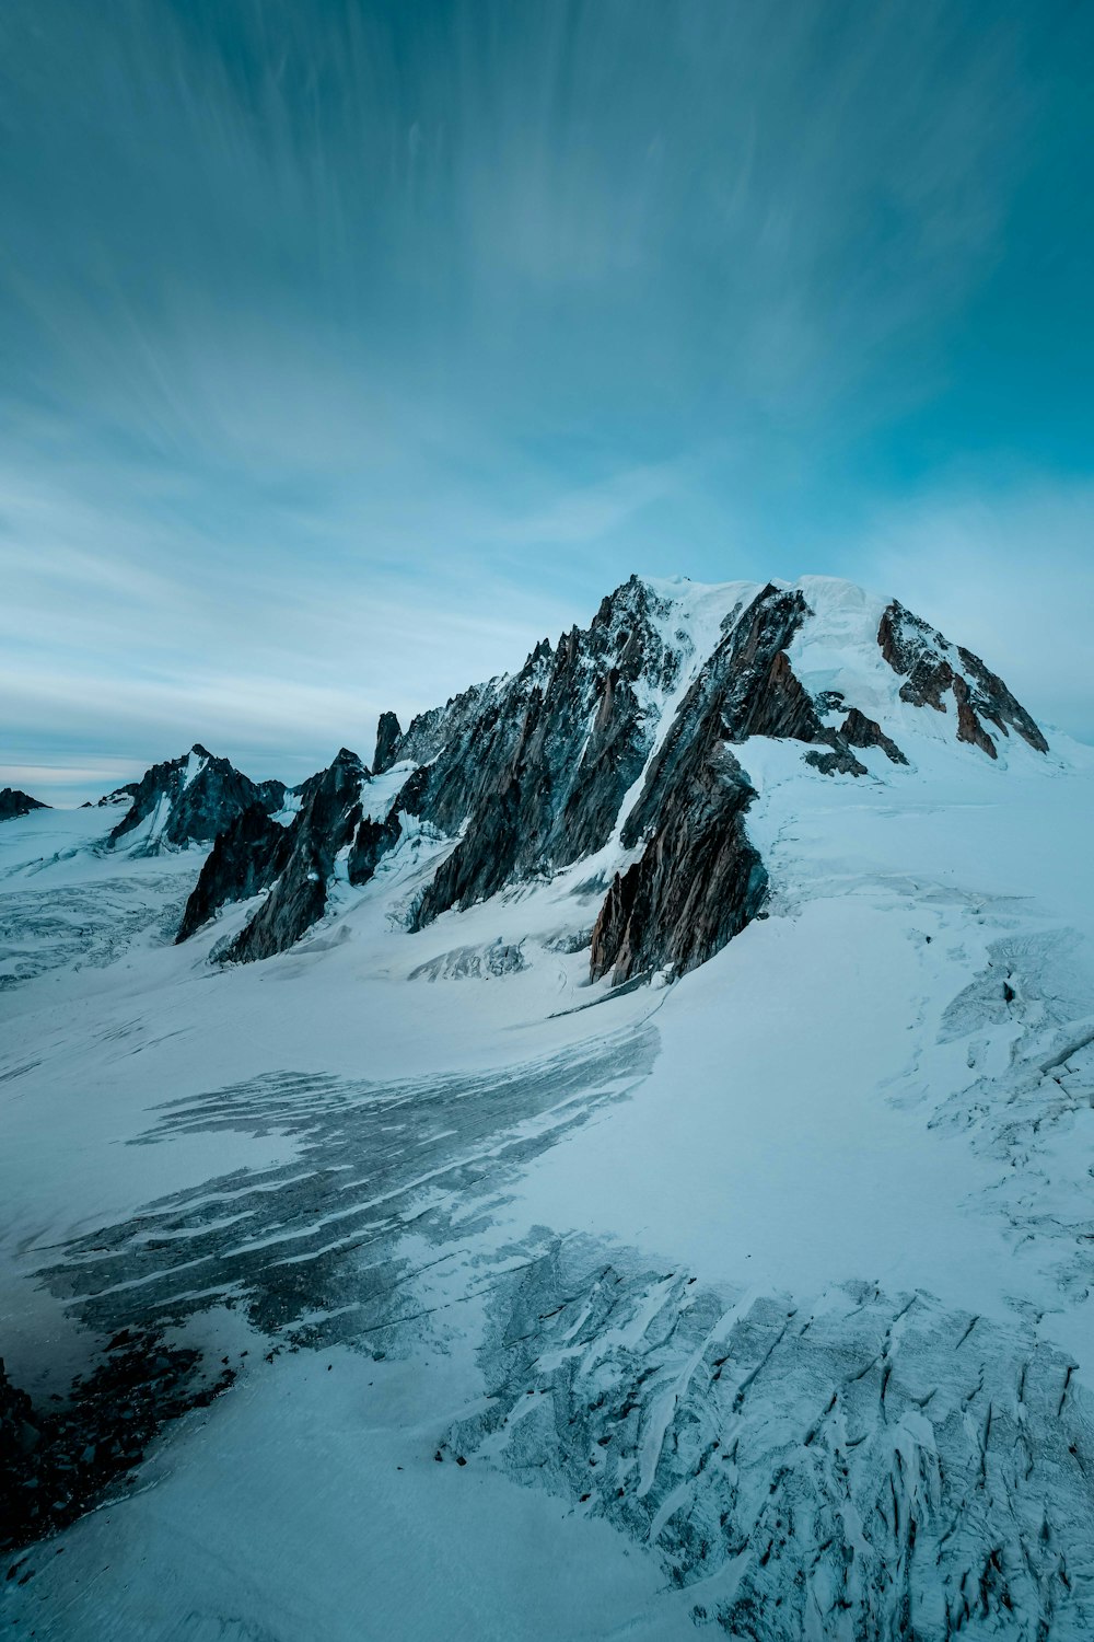
[[[764,903],[746,831],[754,791],[735,750],[753,737],[802,742],[820,775],[855,778],[909,767],[923,739],[996,762],[1007,742],[1048,750],[979,657],[896,599],[818,576],[764,586],[631,576],[586,631],[554,647],[545,639],[518,673],[469,688],[405,732],[382,714],[372,770],[343,749],[303,785],[287,829],[262,805],[233,814],[179,939],[267,892],[218,956],[287,951],[325,916],[335,880],[367,885],[413,818],[449,847],[408,928],[595,859],[607,893],[590,979],[684,974]],[[369,796],[374,782],[385,801]]]

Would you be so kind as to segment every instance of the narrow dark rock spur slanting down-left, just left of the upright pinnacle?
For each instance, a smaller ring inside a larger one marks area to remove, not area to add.
[[[267,898],[225,952],[225,961],[272,957],[318,923],[326,910],[335,857],[358,832],[361,787],[367,780],[366,765],[356,752],[343,747],[328,770],[303,783],[300,811],[287,832],[287,846],[282,846],[287,847],[287,859]],[[267,847],[272,859],[280,860],[277,846]]]

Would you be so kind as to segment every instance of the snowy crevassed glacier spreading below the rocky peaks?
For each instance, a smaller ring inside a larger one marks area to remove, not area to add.
[[[236,1369],[11,1634],[1094,1634],[1094,760],[743,759],[768,916],[615,993],[617,841],[407,934],[408,829],[220,970],[200,854],[5,823],[8,1373]]]

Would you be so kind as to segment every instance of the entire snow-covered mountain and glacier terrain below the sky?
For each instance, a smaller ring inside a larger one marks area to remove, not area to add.
[[[10,1629],[1091,1635],[1094,755],[1027,706],[631,578],[371,767],[5,823]]]

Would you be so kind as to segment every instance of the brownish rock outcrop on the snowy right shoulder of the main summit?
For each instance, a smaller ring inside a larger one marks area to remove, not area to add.
[[[1002,678],[971,650],[961,647],[955,650],[940,632],[897,599],[881,617],[877,644],[889,667],[896,673],[907,675],[907,681],[900,685],[902,701],[945,713],[945,698],[953,693],[958,709],[958,741],[979,747],[989,759],[997,757],[994,737],[982,722],[987,719],[1004,736],[1015,731],[1037,752],[1048,752],[1048,742]]]

